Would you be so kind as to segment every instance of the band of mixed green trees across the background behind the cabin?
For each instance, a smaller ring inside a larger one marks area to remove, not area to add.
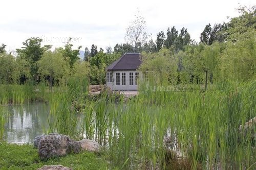
[[[127,28],[127,43],[116,44],[97,49],[92,44],[91,50],[85,48],[84,60],[79,61],[79,46],[73,50],[70,41],[62,48],[50,51],[51,45],[41,45],[42,39],[29,38],[23,47],[17,49],[17,56],[7,54],[5,44],[0,46],[0,83],[24,84],[27,81],[48,82],[52,85],[65,85],[74,75],[90,77],[90,84],[105,83],[105,68],[122,54],[140,52],[143,55],[143,71],[152,70],[158,62],[159,67],[172,70],[167,79],[173,84],[205,84],[227,79],[247,81],[255,78],[255,6],[247,9],[240,7],[239,17],[231,18],[227,23],[208,24],[200,35],[200,43],[190,39],[184,27],[178,31],[168,28],[166,34],[161,31],[156,41],[148,41],[143,17],[136,15]],[[161,57],[158,57],[161,56]],[[147,59],[145,59],[147,58]],[[168,60],[169,67],[165,67]],[[149,61],[152,60],[152,61]],[[159,60],[159,61],[157,61]],[[177,69],[176,69],[177,68]],[[176,77],[173,77],[176,75]]]

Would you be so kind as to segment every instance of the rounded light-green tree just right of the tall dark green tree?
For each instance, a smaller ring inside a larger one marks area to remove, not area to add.
[[[52,90],[53,81],[61,82],[69,74],[69,63],[58,50],[45,52],[38,61],[40,75],[49,78],[49,87]]]

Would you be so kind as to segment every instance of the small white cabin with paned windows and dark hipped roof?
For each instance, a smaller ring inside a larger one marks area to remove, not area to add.
[[[106,86],[113,91],[138,90],[141,64],[139,53],[125,53],[118,60],[106,67]]]

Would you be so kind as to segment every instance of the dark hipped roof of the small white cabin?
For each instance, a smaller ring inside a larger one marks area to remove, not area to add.
[[[141,64],[139,53],[125,53],[122,57],[106,67],[106,70],[136,70]]]

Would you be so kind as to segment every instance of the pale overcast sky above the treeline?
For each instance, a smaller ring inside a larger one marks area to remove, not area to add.
[[[253,3],[254,2],[254,3]],[[199,41],[204,27],[211,23],[228,21],[227,16],[239,16],[236,8],[252,6],[251,0],[108,0],[108,1],[1,1],[0,44],[7,51],[20,48],[30,37],[45,40],[53,47],[63,46],[65,37],[77,37],[74,46],[91,47],[94,43],[103,49],[125,42],[126,28],[139,9],[145,18],[147,32],[153,40],[160,31],[175,26],[187,28],[191,39]],[[55,37],[55,38],[53,38]],[[60,40],[59,40],[60,39]]]

